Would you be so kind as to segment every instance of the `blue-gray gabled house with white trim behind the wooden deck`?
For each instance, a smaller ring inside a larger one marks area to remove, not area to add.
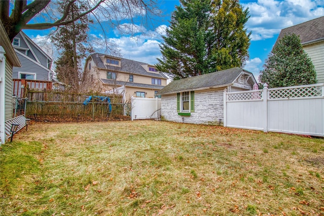
[[[13,79],[52,81],[52,59],[23,31],[15,36],[12,45],[21,62],[20,68],[13,68]],[[17,86],[17,83],[13,83],[13,85]],[[21,83],[18,82],[18,85],[21,85]],[[37,88],[37,86],[34,85],[32,88]],[[43,85],[41,86],[43,88]],[[16,92],[16,90],[14,91]]]

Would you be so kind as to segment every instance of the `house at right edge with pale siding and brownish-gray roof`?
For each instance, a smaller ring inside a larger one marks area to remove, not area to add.
[[[324,83],[324,16],[282,29],[278,39],[285,34],[299,35],[303,49],[311,58],[318,83]]]

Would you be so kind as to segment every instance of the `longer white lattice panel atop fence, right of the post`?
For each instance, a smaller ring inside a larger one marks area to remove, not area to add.
[[[302,87],[294,89],[270,90],[269,98],[299,98],[314,97],[322,95],[321,86]]]

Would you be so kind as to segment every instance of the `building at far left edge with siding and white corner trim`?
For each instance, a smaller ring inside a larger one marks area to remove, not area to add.
[[[0,20],[0,144],[6,141],[5,122],[12,118],[12,71],[19,59]]]

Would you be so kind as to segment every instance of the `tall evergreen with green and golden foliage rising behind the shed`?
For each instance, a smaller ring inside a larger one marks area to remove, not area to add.
[[[174,79],[242,66],[249,58],[249,11],[238,0],[180,0],[160,46],[158,70]]]

